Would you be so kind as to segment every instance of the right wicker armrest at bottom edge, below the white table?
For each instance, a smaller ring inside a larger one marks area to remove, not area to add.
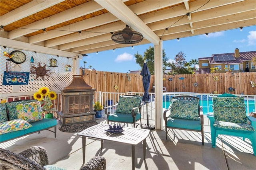
[[[80,170],[106,170],[106,159],[103,156],[94,156]]]

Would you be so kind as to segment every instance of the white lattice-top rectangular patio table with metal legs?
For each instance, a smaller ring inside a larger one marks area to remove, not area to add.
[[[146,137],[148,136],[150,130],[148,129],[138,129],[133,127],[123,127],[122,133],[108,133],[105,129],[108,129],[108,125],[98,124],[85,129],[84,131],[78,133],[82,136],[83,145],[83,163],[85,162],[85,147],[86,147],[86,137],[92,137],[100,139],[101,150],[103,147],[103,140],[125,143],[132,145],[132,170],[135,169],[135,145],[138,145],[143,141],[143,157],[146,157]]]

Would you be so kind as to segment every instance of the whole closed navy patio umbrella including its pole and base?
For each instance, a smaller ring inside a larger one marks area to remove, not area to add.
[[[148,103],[149,103],[149,85],[150,85],[150,72],[148,70],[148,66],[146,64],[146,61],[144,61],[142,70],[140,72],[140,75],[142,76],[142,82],[143,82],[143,88],[144,88],[144,95],[142,97],[142,101],[146,103],[146,112],[147,112],[147,124],[142,124],[141,127],[144,129],[155,129],[154,125],[150,125],[148,123]]]

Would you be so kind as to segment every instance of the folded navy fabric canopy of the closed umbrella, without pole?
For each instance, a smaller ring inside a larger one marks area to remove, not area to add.
[[[140,75],[142,76],[142,82],[143,82],[143,88],[144,88],[144,95],[142,97],[142,101],[145,103],[149,102],[149,85],[150,85],[150,72],[148,70],[148,66],[146,62],[144,62],[142,70],[140,72]]]

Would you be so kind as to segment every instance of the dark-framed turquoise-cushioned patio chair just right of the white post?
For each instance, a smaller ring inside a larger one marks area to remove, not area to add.
[[[199,105],[199,98],[194,96],[172,97],[171,105],[164,111],[165,135],[167,140],[167,129],[181,129],[198,131],[202,135],[204,145],[204,115]],[[170,115],[166,113],[170,110]]]

